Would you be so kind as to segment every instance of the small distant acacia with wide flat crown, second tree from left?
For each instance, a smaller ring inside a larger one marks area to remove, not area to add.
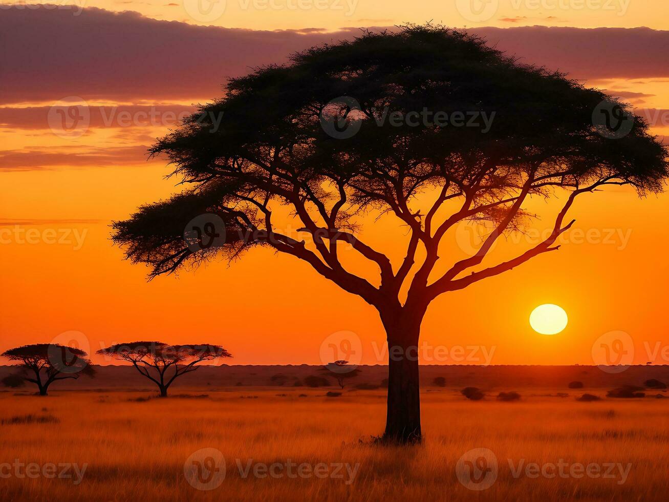
[[[167,389],[176,378],[195,371],[198,363],[232,357],[220,345],[168,345],[161,341],[117,343],[98,350],[98,354],[132,363],[137,371],[158,386],[161,398],[167,397]]]

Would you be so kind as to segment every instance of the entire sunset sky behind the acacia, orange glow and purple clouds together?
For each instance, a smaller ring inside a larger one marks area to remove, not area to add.
[[[3,68],[23,70],[2,76],[0,346],[50,340],[70,330],[84,333],[92,347],[150,333],[161,333],[166,341],[183,334],[197,341],[193,319],[225,317],[224,325],[212,324],[212,341],[225,342],[235,354],[233,363],[317,363],[321,341],[342,330],[361,339],[363,363],[378,363],[373,347],[383,345],[385,335],[375,312],[292,257],[258,249],[230,266],[221,262],[147,282],[147,268],[122,260],[122,250],[111,245],[110,222],[183,189],[179,179],[163,178],[171,172],[165,159],[147,161],[147,149],[174,127],[175,118],[193,111],[191,104],[221,96],[228,76],[282,62],[290,52],[325,41],[350,39],[363,25],[435,19],[468,26],[524,62],[569,72],[586,86],[621,96],[652,122],[655,134],[668,134],[669,75],[662,49],[668,36],[662,30],[669,28],[666,1],[633,1],[624,15],[519,5],[516,10],[502,1],[498,13],[484,22],[465,19],[454,2],[361,1],[354,15],[346,15],[337,10],[244,11],[228,1],[222,17],[206,22],[171,3],[101,0],[90,8],[87,3],[79,15],[63,8],[1,10]],[[306,27],[316,29],[272,31]],[[124,35],[128,30],[146,33],[146,39],[130,42]],[[50,40],[49,54],[33,33]],[[646,44],[648,39],[655,41]],[[84,49],[96,56],[82,57]],[[39,61],[27,66],[22,63],[27,58]],[[44,72],[51,72],[48,80]],[[51,129],[48,120],[52,105],[66,96],[85,100],[90,115],[88,127],[72,135]],[[551,214],[558,201],[533,198],[529,205],[529,212]],[[611,207],[619,210],[614,214]],[[669,268],[648,252],[669,244],[662,224],[649,218],[669,214],[669,199],[660,194],[638,201],[634,189],[606,187],[583,197],[573,214],[577,222],[561,236],[559,251],[436,300],[427,311],[422,339],[447,347],[464,340],[494,345],[494,363],[500,364],[587,363],[593,341],[611,329],[624,329],[639,347],[651,338],[667,343],[661,284],[669,280]],[[363,223],[371,224],[363,225],[363,238],[387,251],[397,266],[406,246],[391,240],[401,228],[397,220],[385,215]],[[299,228],[286,220],[289,225]],[[533,225],[539,232],[549,229],[544,220]],[[530,234],[500,240],[491,262],[527,248],[533,239]],[[478,245],[478,236],[456,228],[440,254],[458,260]],[[355,253],[342,254],[361,266]],[[256,292],[258,272],[264,274],[261,294]],[[235,284],[235,295],[216,292],[220,284]],[[205,290],[211,293],[201,295]],[[498,290],[507,294],[500,296]],[[537,340],[523,314],[545,294],[579,325],[578,333],[567,331],[550,346]],[[237,315],[221,311],[222,297]],[[478,315],[480,301],[487,305],[486,316]],[[333,317],[333,306],[347,315]],[[260,308],[280,321],[271,333],[249,322]],[[444,319],[449,319],[448,329]],[[260,352],[259,344],[272,350]],[[642,350],[636,357],[637,362],[648,359]]]

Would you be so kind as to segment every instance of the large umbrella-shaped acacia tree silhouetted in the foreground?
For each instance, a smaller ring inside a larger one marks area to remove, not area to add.
[[[494,116],[490,127],[484,116]],[[579,195],[607,185],[658,192],[668,173],[665,147],[628,105],[432,25],[363,33],[235,78],[152,153],[167,155],[192,188],[114,223],[130,260],[151,265],[153,278],[268,246],[375,307],[389,354],[417,345],[439,295],[557,250]],[[525,203],[553,193],[563,206],[550,235],[483,264],[500,236],[531,218]],[[282,231],[281,206],[297,235]],[[203,214],[225,228],[187,238]],[[406,245],[396,263],[359,231],[383,214],[397,218],[396,242]],[[447,232],[471,220],[490,226],[480,248],[442,258]],[[221,233],[225,242],[209,245]],[[351,271],[344,245],[369,274]],[[417,357],[389,358],[385,440],[421,438],[418,371]]]

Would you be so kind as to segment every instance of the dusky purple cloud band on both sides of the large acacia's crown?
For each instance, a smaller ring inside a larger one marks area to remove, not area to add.
[[[478,28],[521,58],[573,78],[669,77],[669,31],[648,28]],[[0,16],[0,104],[87,100],[209,99],[228,77],[285,62],[286,55],[360,33],[253,31],[148,19],[86,8],[8,9]]]

